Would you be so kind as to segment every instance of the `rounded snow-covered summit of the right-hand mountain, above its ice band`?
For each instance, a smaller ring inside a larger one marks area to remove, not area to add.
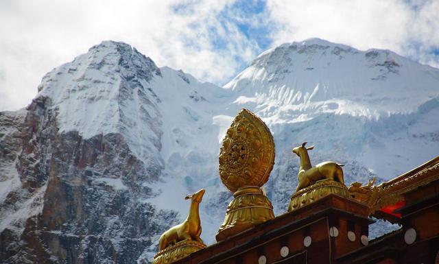
[[[392,51],[359,51],[309,38],[262,53],[224,87],[240,93],[240,101],[252,97],[259,104],[302,105],[300,111],[311,107],[377,118],[416,111],[437,96],[438,82],[439,69]],[[337,107],[328,109],[323,101],[337,101]]]

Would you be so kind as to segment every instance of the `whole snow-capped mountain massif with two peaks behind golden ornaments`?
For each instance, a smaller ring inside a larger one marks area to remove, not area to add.
[[[241,108],[274,135],[276,215],[296,189],[290,149],[303,141],[316,145],[312,163],[346,163],[348,183],[393,178],[439,149],[439,69],[320,39],[265,51],[224,87],[105,41],[38,91],[25,110],[0,112],[1,263],[149,263],[200,188],[213,243],[231,200],[217,154]]]

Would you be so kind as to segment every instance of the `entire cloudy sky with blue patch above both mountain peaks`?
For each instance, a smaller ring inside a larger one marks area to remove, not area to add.
[[[47,71],[102,40],[218,85],[262,51],[314,37],[438,67],[438,12],[437,0],[3,0],[0,110],[29,104]]]

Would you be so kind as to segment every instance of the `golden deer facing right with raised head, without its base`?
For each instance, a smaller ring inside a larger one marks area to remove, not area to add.
[[[201,235],[201,224],[200,224],[200,213],[199,206],[204,195],[205,190],[201,189],[196,193],[187,195],[186,200],[191,199],[191,207],[189,208],[189,215],[182,224],[178,224],[172,228],[169,228],[166,232],[161,235],[158,240],[158,250],[164,250],[169,245],[174,245],[175,243],[183,240],[193,240],[203,243],[200,238]]]

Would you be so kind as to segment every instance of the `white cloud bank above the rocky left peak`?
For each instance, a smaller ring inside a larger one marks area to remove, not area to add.
[[[223,17],[222,10],[231,3],[1,1],[0,110],[26,106],[47,71],[108,39],[133,45],[159,67],[182,69],[201,80],[226,82],[240,67],[239,62],[248,62],[259,52],[257,43]],[[224,49],[213,45],[214,38],[228,40]]]

